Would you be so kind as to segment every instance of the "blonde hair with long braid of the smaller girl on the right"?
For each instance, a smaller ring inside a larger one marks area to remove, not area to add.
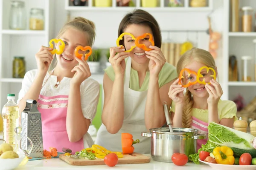
[[[204,49],[192,48],[180,57],[180,60],[177,63],[177,73],[180,73],[180,71],[192,61],[203,63],[207,67],[211,67],[213,69],[216,67],[214,58],[208,51]],[[189,89],[186,89],[184,97],[185,104],[183,107],[182,127],[190,128],[192,121],[193,97]]]

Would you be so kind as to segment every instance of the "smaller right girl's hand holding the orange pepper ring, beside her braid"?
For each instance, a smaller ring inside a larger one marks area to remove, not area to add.
[[[175,104],[183,104],[184,103],[184,87],[178,84],[179,79],[175,80],[173,84],[170,86],[169,90],[169,98],[175,102]]]

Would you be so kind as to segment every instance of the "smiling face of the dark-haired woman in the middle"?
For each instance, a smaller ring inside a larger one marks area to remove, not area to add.
[[[150,33],[153,36],[152,30],[149,26],[145,25],[138,25],[138,24],[130,24],[127,26],[127,28],[124,30],[124,32],[128,32],[132,34],[135,38],[145,34]],[[154,40],[154,37],[153,37]],[[151,42],[149,41],[149,35],[147,35],[145,38],[139,40],[139,43],[145,44],[147,48],[151,46]],[[135,46],[135,40],[132,39],[131,36],[125,35],[124,36],[124,46],[126,50],[131,49],[132,46]],[[149,59],[146,57],[145,50],[139,47],[135,47],[130,52],[130,57],[136,61],[137,63],[143,64],[146,63]]]

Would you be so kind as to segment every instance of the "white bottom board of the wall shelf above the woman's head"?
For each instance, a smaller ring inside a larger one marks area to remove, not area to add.
[[[67,11],[132,11],[134,9],[143,9],[151,12],[210,12],[210,7],[90,7],[90,6],[67,6]]]

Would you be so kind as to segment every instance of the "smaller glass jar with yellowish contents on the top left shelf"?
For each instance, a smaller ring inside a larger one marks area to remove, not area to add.
[[[30,10],[29,29],[44,30],[44,9],[32,8]]]

